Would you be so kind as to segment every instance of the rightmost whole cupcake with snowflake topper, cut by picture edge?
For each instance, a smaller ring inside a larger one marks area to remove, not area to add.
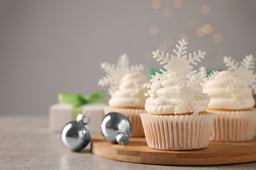
[[[247,56],[239,66],[231,58],[224,57],[229,70],[220,71],[205,82],[203,90],[211,97],[207,111],[216,114],[211,141],[253,139],[256,126],[253,60],[253,56]]]

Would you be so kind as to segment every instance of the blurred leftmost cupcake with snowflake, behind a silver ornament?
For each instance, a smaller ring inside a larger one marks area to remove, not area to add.
[[[143,85],[149,82],[143,73],[143,65],[135,65],[129,68],[128,57],[120,56],[116,67],[109,63],[102,63],[101,68],[108,73],[100,79],[101,86],[110,85],[110,99],[104,113],[120,112],[131,121],[132,131],[130,137],[144,137],[144,130],[140,120],[140,113],[145,112],[144,105],[146,88]]]

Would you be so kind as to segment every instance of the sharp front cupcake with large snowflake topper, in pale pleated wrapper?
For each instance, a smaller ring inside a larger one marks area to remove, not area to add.
[[[215,114],[206,111],[210,97],[203,93],[201,77],[191,71],[205,52],[195,52],[187,59],[188,43],[184,39],[179,43],[178,50],[173,50],[177,56],[171,59],[169,54],[153,52],[153,58],[166,65],[145,84],[149,97],[140,117],[150,148],[194,150],[209,145]]]

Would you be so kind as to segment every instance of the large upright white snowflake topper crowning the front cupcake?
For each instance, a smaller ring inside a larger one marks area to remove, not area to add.
[[[173,50],[175,52],[176,56],[171,55],[171,59],[169,59],[169,54],[166,53],[166,56],[164,55],[164,52],[159,52],[157,50],[156,52],[153,52],[154,56],[153,58],[157,58],[156,61],[161,61],[160,64],[165,64],[163,68],[165,68],[167,71],[164,71],[163,69],[160,69],[161,73],[156,73],[155,76],[152,76],[152,78],[161,78],[165,76],[165,73],[167,72],[177,72],[177,73],[188,73],[193,69],[191,64],[197,65],[196,61],[200,62],[202,58],[205,56],[205,52],[201,52],[201,50],[198,51],[198,54],[194,52],[193,57],[192,54],[188,54],[188,58],[186,55],[186,49],[188,48],[186,45],[188,42],[185,41],[185,39],[182,39],[182,41],[179,41],[179,44],[176,45],[177,50]]]

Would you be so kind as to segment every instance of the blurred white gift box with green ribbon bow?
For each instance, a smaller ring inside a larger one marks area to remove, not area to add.
[[[92,134],[100,133],[100,121],[104,116],[103,108],[107,105],[102,99],[106,91],[98,91],[89,95],[61,92],[58,103],[49,107],[49,128],[52,132],[60,132],[65,124],[75,120],[79,113],[89,114],[88,124]]]

